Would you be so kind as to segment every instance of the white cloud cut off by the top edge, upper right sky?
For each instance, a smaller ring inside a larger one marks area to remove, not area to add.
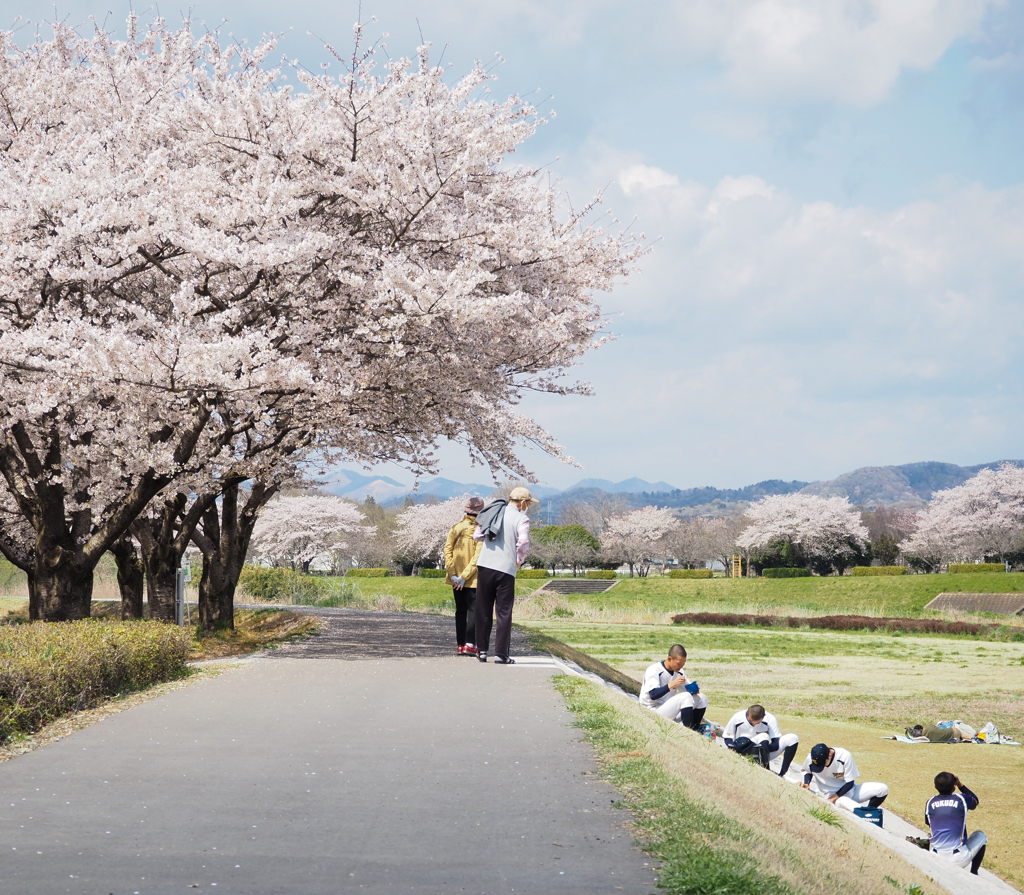
[[[979,33],[1004,0],[679,0],[679,39],[710,53],[737,93],[881,102],[904,69],[927,70]]]

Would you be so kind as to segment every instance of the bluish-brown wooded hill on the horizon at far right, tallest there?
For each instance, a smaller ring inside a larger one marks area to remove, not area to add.
[[[816,481],[802,488],[803,494],[818,497],[845,497],[861,507],[919,507],[937,491],[964,484],[982,469],[994,469],[999,463],[957,466],[955,463],[906,463],[902,466],[864,466],[830,481]],[[1024,461],[1010,463],[1024,466]]]

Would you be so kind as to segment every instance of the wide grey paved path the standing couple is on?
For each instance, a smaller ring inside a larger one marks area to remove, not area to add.
[[[456,657],[451,620],[330,614],[0,765],[0,892],[651,891],[548,660]]]

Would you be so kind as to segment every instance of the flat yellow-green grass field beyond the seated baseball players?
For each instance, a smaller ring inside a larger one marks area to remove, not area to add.
[[[981,800],[971,828],[988,834],[985,865],[1018,888],[1024,884],[1024,747],[905,745],[880,738],[913,723],[958,718],[979,728],[992,721],[1024,740],[1024,644],[558,619],[522,624],[633,678],[671,644],[683,643],[687,673],[711,701],[710,718],[724,724],[734,712],[762,702],[784,731],[800,734],[801,761],[815,742],[850,749],[861,779],[888,783],[886,807],[919,826],[935,774],[958,774]]]

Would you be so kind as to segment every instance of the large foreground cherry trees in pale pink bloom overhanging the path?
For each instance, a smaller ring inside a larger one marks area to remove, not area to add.
[[[106,552],[125,614],[144,581],[169,617],[194,545],[232,624],[261,509],[316,464],[561,456],[515,404],[586,390],[593,295],[641,252],[506,164],[529,104],[426,47],[378,71],[360,27],[338,77],[188,23],[52,29],[0,33],[0,552],[33,619],[87,616]]]

